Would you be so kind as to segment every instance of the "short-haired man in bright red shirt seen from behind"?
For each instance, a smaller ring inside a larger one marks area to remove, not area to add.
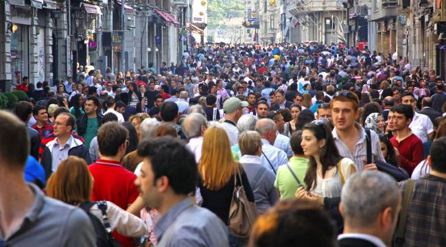
[[[134,186],[137,176],[121,165],[127,140],[128,131],[124,126],[116,121],[104,124],[97,132],[99,159],[89,165],[94,181],[91,200],[108,200],[124,210],[138,197],[137,187]],[[123,246],[133,246],[130,237],[116,233],[114,236]]]

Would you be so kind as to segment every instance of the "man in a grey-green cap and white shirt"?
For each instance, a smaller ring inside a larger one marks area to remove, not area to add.
[[[224,122],[222,128],[228,134],[231,146],[237,144],[239,138],[239,130],[237,129],[237,121],[243,114],[243,108],[248,106],[248,102],[242,102],[236,97],[230,97],[223,103]]]

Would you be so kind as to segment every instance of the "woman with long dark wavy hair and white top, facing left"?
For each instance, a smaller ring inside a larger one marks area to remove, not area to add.
[[[340,197],[342,185],[356,172],[350,158],[342,158],[325,121],[306,124],[301,146],[309,158],[309,167],[303,179],[307,190],[322,197]]]

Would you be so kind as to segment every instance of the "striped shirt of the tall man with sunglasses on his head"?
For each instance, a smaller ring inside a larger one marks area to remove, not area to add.
[[[362,171],[364,169],[363,160],[367,159],[367,142],[366,142],[366,131],[359,124],[355,124],[355,127],[360,132],[360,139],[357,141],[355,145],[355,151],[353,154],[350,152],[347,145],[340,139],[338,135],[338,131],[336,128],[333,129],[331,134],[333,134],[333,139],[336,143],[336,148],[338,148],[338,152],[340,156],[344,158],[350,158],[355,162],[355,165],[358,171]],[[385,161],[384,156],[381,152],[381,142],[379,141],[379,137],[375,131],[371,130],[371,144],[372,144],[372,162],[375,161]]]

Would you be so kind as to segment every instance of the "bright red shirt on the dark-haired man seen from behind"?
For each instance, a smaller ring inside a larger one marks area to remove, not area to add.
[[[121,209],[126,210],[139,196],[134,180],[137,176],[124,168],[117,161],[106,161],[98,159],[96,163],[89,165],[91,176],[93,176],[93,193],[91,200],[108,200],[117,204]],[[130,237],[124,237],[113,232],[113,236],[122,246],[133,246]]]

